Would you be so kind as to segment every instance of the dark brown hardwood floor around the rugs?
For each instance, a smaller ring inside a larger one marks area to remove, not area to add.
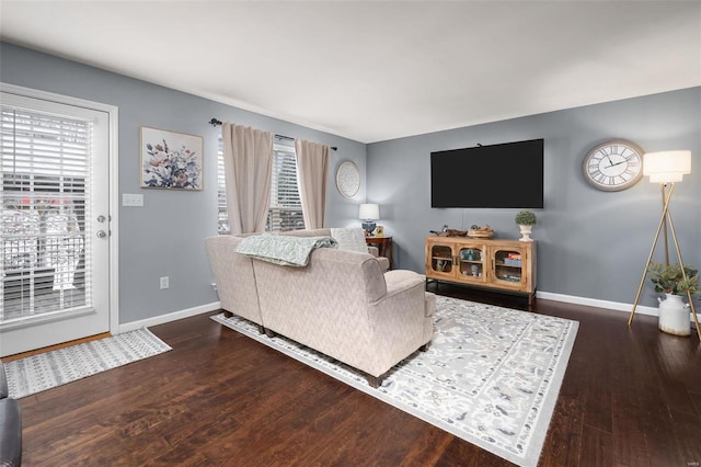
[[[543,299],[531,310],[579,321],[539,465],[700,465],[696,332]],[[151,330],[173,351],[21,399],[25,466],[509,465],[207,315]]]

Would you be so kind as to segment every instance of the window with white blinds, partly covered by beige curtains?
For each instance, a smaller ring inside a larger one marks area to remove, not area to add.
[[[218,158],[218,231],[229,234],[227,214],[226,181],[223,175],[223,141],[219,138]],[[283,232],[304,228],[302,203],[297,184],[297,157],[292,145],[273,145],[273,173],[271,182],[271,205],[267,212],[266,231]]]

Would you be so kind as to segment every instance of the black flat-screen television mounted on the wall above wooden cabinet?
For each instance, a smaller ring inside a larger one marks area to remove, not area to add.
[[[430,153],[432,207],[543,207],[543,139]]]

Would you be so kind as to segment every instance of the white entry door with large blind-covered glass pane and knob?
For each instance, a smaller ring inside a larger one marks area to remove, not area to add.
[[[111,324],[112,115],[70,99],[5,91],[0,356],[107,332]]]

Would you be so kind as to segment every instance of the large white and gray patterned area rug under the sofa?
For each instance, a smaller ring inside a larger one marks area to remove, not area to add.
[[[398,364],[378,389],[360,372],[260,334],[242,318],[211,318],[512,463],[537,465],[578,322],[437,299],[428,352]]]

